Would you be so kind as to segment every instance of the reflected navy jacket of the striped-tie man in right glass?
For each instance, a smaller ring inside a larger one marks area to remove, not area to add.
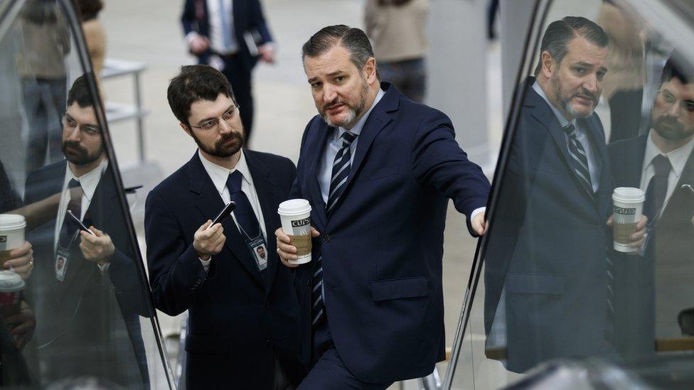
[[[484,254],[486,332],[506,291],[506,368],[523,372],[554,357],[604,348],[607,218],[612,210],[604,131],[579,119],[602,162],[593,201],[572,168],[565,133],[526,80],[523,107],[490,221]],[[503,309],[502,309],[503,310]]]

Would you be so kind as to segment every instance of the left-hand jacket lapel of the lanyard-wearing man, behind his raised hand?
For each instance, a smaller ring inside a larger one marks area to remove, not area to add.
[[[213,220],[219,214],[220,210],[222,210],[222,207],[224,207],[222,197],[220,197],[217,188],[215,188],[215,185],[212,183],[212,179],[210,179],[210,176],[203,167],[198,153],[193,156],[189,164],[191,165],[190,190],[198,195],[196,207],[203,215],[205,221]],[[241,233],[236,227],[233,219],[225,218],[222,222],[222,226],[224,227],[224,235],[227,238],[224,243],[225,247],[262,286],[262,279],[260,278],[258,266],[255,264],[255,260],[250,257],[246,243],[241,237]]]

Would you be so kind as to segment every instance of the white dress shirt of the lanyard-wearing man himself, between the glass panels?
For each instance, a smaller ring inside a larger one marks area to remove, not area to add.
[[[260,222],[260,231],[262,232],[262,237],[265,238],[265,242],[267,242],[267,232],[265,232],[265,219],[262,217],[260,201],[258,200],[258,194],[255,190],[255,185],[253,184],[253,178],[250,175],[250,170],[248,170],[248,164],[246,163],[246,158],[244,156],[243,149],[241,149],[241,156],[239,158],[238,163],[236,163],[236,167],[233,170],[229,170],[227,168],[224,168],[223,166],[218,166],[217,164],[209,161],[207,158],[205,158],[205,156],[203,156],[202,153],[200,153],[199,150],[198,156],[200,157],[200,161],[202,161],[203,163],[203,168],[205,168],[205,172],[207,172],[208,176],[210,176],[210,179],[212,180],[215,189],[219,193],[219,196],[222,198],[222,201],[225,205],[231,200],[231,197],[229,195],[229,189],[227,188],[227,179],[229,178],[229,175],[235,170],[238,170],[241,173],[241,175],[243,176],[243,179],[241,180],[241,191],[242,193],[245,193],[248,197],[250,207],[253,209],[253,213],[255,214],[255,217],[257,217],[258,222]],[[236,221],[236,216],[234,215],[234,212],[231,213],[231,217],[233,218],[234,223],[238,227],[238,222]],[[203,267],[205,267],[205,272],[208,271],[211,260],[211,257],[208,260],[201,260]]]

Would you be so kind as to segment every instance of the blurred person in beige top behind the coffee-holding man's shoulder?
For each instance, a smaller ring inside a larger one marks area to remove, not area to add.
[[[429,0],[367,0],[364,10],[381,80],[420,103],[427,90],[428,16]]]

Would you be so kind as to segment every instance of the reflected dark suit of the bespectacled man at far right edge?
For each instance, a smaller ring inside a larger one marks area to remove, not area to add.
[[[650,133],[609,145],[615,187],[641,187],[648,136]],[[671,325],[676,323],[680,310],[694,306],[691,283],[694,276],[691,267],[694,194],[681,188],[683,184],[694,185],[692,156],[688,157],[661,216],[651,221],[646,256],[612,254],[616,271],[615,325],[621,329],[615,335],[616,347],[626,358],[652,354],[653,340],[656,340],[655,320]],[[661,337],[680,337],[680,334],[666,332]]]

